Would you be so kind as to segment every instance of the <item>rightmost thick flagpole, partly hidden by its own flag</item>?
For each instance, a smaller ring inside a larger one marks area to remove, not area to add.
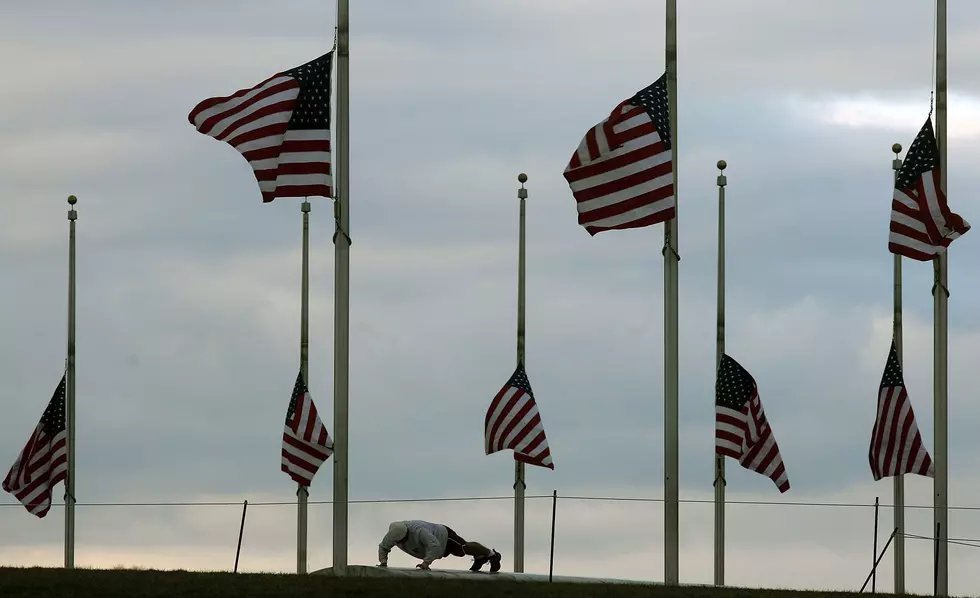
[[[940,185],[946,192],[946,0],[936,0],[936,138],[939,144]],[[933,393],[935,418],[935,493],[933,496],[933,515],[939,528],[936,559],[936,594],[946,596],[949,563],[947,561],[946,538],[949,534],[947,500],[949,492],[947,463],[947,326],[949,313],[948,289],[948,249],[934,260],[936,284],[933,286]]]

